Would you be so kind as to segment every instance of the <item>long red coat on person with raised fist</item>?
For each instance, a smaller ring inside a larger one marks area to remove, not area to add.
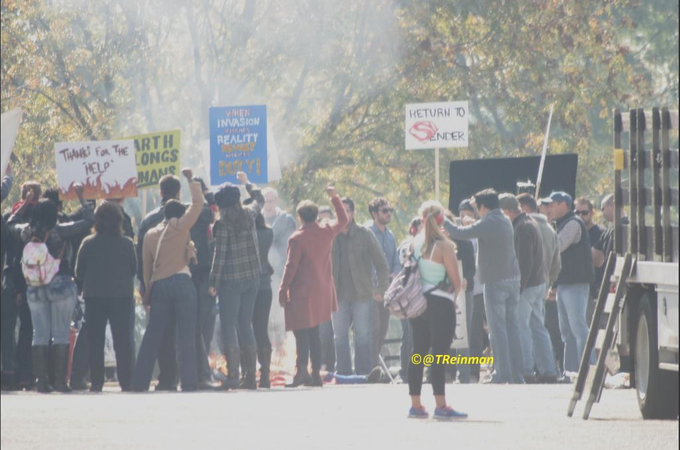
[[[331,320],[331,313],[338,310],[331,252],[333,239],[348,218],[340,197],[331,201],[337,222],[305,224],[288,241],[288,260],[279,289],[286,331],[314,328]]]

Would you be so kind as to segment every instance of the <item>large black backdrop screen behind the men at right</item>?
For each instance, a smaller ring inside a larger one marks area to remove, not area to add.
[[[458,214],[458,205],[475,193],[494,188],[499,193],[517,193],[517,182],[536,184],[540,156],[525,158],[469,159],[453,161],[449,170],[451,197],[449,209]],[[576,197],[578,155],[548,155],[543,169],[541,198],[553,191],[565,191]]]

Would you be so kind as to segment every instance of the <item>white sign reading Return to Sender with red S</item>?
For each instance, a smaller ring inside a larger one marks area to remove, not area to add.
[[[468,102],[406,105],[406,149],[467,147],[468,116]]]

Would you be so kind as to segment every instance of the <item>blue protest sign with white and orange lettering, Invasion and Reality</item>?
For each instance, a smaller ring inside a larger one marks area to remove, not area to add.
[[[210,108],[209,116],[211,184],[236,183],[238,172],[269,182],[267,106]]]

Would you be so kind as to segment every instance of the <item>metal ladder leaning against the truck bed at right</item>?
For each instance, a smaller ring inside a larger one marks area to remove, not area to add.
[[[586,406],[583,411],[583,419],[588,420],[590,411],[595,402],[600,402],[602,396],[602,389],[604,388],[604,381],[608,369],[610,373],[615,373],[620,367],[618,353],[616,353],[616,331],[614,330],[618,320],[619,313],[623,309],[626,300],[626,293],[628,292],[628,277],[633,269],[634,260],[633,255],[627,253],[623,259],[623,268],[621,276],[616,284],[616,290],[611,293],[610,283],[611,277],[614,275],[616,268],[616,253],[611,252],[607,260],[607,266],[600,286],[600,292],[593,313],[593,319],[590,323],[590,331],[586,341],[586,347],[581,357],[581,365],[578,371],[578,378],[574,386],[574,394],[569,403],[569,411],[567,415],[572,417],[576,409],[576,403],[581,400],[584,393],[588,393]],[[607,326],[604,329],[600,328],[601,319],[605,314],[608,314]],[[593,349],[599,350],[600,354],[595,365],[590,364],[590,355]],[[610,354],[611,353],[611,354]]]

